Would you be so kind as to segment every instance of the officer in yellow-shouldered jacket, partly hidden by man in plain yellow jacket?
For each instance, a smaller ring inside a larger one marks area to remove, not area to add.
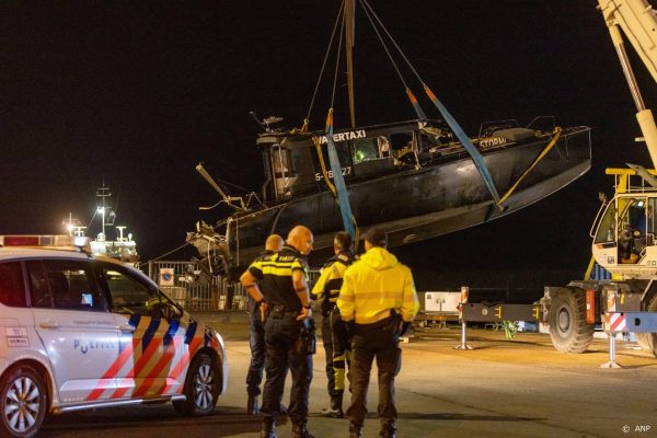
[[[331,397],[331,407],[322,410],[322,415],[342,418],[345,371],[350,347],[346,325],[339,316],[335,302],[342,287],[343,275],[347,266],[354,262],[351,237],[344,231],[338,232],[333,239],[333,251],[335,255],[322,268],[322,274],[312,288],[311,297],[313,300],[321,301],[322,339],[326,353],[326,378]]]

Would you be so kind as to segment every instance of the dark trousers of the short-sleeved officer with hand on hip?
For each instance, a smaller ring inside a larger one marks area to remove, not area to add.
[[[281,318],[269,315],[265,323],[265,390],[261,412],[265,416],[276,417],[280,410],[285,379],[288,369],[292,373],[292,388],[288,415],[292,423],[301,423],[308,418],[308,400],[312,381],[312,355],[297,351],[295,345],[301,333],[301,322],[297,313],[286,312]]]

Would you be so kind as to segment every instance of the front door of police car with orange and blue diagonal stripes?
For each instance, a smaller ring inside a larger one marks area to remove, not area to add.
[[[184,342],[176,308],[135,272],[107,264],[103,275],[111,311],[122,330],[118,388],[113,397],[152,397],[176,392],[182,384],[177,379],[184,378],[176,372]]]

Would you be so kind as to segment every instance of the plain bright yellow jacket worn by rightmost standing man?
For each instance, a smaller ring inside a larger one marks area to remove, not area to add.
[[[419,301],[411,269],[385,249],[371,247],[345,272],[337,308],[344,321],[356,324],[384,320],[391,310],[413,321]]]

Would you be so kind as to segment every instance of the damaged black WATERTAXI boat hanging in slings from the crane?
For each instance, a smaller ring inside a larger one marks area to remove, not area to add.
[[[351,127],[334,130],[327,117],[324,129],[310,130],[279,127],[280,117],[256,118],[263,127],[255,141],[264,164],[261,193],[229,196],[199,164],[197,171],[221,195],[218,205],[231,211],[215,224],[199,222],[187,241],[221,275],[227,266],[249,264],[268,234],[286,235],[304,224],[315,238],[310,263],[320,264],[335,233],[348,229],[345,209],[356,231],[381,229],[392,247],[510,215],[591,166],[587,126],[562,128],[554,117],[541,116],[525,126],[485,123],[465,136],[425,90],[441,118],[427,118],[408,90],[418,117],[405,122],[356,126],[353,119]],[[338,163],[333,160],[328,169],[332,153]],[[342,198],[334,187],[341,181]]]

